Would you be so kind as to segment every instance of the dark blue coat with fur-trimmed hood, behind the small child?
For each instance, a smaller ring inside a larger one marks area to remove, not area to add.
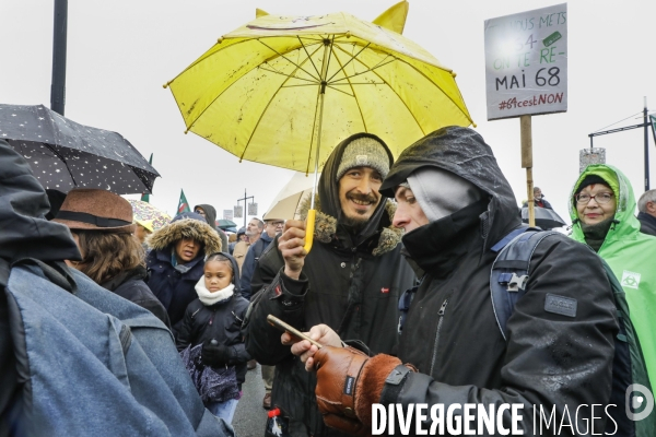
[[[201,215],[194,214],[202,218]],[[172,262],[174,245],[183,237],[200,241],[202,247],[198,256],[180,265],[174,267]],[[204,257],[221,251],[221,240],[216,231],[204,222],[204,218],[174,220],[166,226],[155,231],[148,237],[148,245],[152,250],[145,258],[149,272],[148,286],[155,297],[160,299],[173,327],[177,333],[178,323],[185,316],[185,310],[191,300],[197,298],[194,286],[202,276]],[[184,270],[184,272],[183,272]]]

